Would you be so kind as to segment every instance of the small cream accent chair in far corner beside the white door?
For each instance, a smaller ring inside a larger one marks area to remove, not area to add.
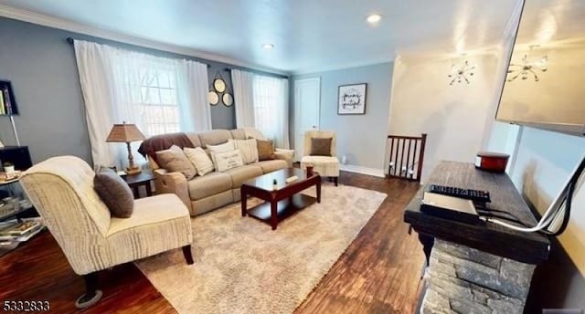
[[[331,156],[310,156],[311,139],[314,138],[333,138],[331,141]],[[335,131],[311,130],[304,132],[304,155],[301,160],[301,168],[306,169],[306,164],[311,163],[314,166],[314,172],[319,173],[322,177],[332,178],[335,186],[337,186],[337,178],[339,177],[339,160],[335,153],[336,143]]]

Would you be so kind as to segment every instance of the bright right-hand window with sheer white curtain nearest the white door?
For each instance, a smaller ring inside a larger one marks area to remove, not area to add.
[[[254,76],[254,123],[276,147],[289,148],[289,80]]]

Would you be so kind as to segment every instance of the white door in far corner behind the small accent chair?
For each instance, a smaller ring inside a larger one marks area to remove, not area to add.
[[[303,158],[304,132],[319,129],[321,78],[294,80],[294,160]]]

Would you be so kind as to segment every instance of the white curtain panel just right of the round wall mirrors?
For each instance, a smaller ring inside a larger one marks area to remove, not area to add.
[[[236,107],[236,126],[246,128],[254,126],[254,75],[250,72],[231,70],[231,84],[234,89]]]

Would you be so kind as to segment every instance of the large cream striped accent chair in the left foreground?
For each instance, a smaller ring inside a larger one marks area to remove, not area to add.
[[[101,298],[99,270],[177,247],[193,264],[189,211],[175,194],[135,200],[131,217],[116,218],[93,190],[94,175],[80,158],[61,156],[38,163],[20,180],[69,265],[85,279],[78,308]]]

